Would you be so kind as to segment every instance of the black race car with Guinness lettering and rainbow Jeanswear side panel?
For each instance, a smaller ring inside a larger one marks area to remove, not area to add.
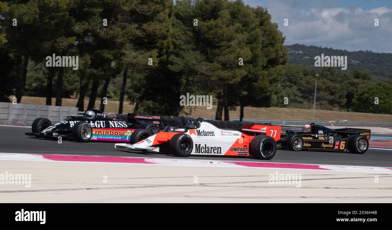
[[[152,135],[159,131],[160,116],[127,115],[128,121],[113,120],[94,107],[84,116],[68,116],[54,125],[47,118],[37,118],[31,125],[32,132],[25,134],[37,138],[58,139],[58,137],[62,137],[79,142],[89,142],[90,140],[126,142],[129,141],[132,132],[136,129],[146,129]]]

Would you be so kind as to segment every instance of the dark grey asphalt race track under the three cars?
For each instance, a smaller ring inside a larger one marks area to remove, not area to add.
[[[26,136],[31,132],[30,127],[0,126],[0,152],[26,153],[26,154],[68,154],[68,155],[93,155],[93,156],[128,156],[151,158],[175,158],[164,153],[143,153],[119,151],[114,149],[114,142],[89,142],[63,141],[39,139]],[[372,136],[391,136],[387,134],[372,134]],[[371,147],[371,146],[370,146]],[[375,147],[382,148],[382,147]],[[252,157],[214,157],[191,156],[187,159],[218,159],[231,161],[261,161]],[[326,165],[359,165],[375,167],[392,167],[392,150],[369,149],[365,154],[352,154],[350,152],[323,152],[278,150],[270,162],[276,163],[307,163]]]

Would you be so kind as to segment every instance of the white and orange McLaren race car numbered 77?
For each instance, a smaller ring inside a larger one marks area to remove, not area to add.
[[[174,156],[190,154],[214,156],[250,156],[257,159],[271,159],[280,146],[280,126],[246,124],[241,132],[219,129],[211,123],[189,120],[185,129],[167,126],[151,136],[145,129],[135,130],[130,144],[116,144],[116,149],[159,152],[169,149]]]

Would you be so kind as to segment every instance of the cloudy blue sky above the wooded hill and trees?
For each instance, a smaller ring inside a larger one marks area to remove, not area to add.
[[[272,22],[295,43],[392,53],[392,0],[243,0],[267,7]],[[283,26],[284,20],[289,26]],[[379,26],[374,20],[379,20]]]

